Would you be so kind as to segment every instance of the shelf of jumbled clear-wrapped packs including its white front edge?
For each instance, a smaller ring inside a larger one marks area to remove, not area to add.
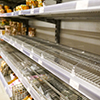
[[[0,51],[2,58],[35,100],[88,100],[9,44],[0,42]]]

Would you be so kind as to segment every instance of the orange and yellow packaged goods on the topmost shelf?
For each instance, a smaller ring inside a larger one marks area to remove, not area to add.
[[[44,0],[26,0],[26,4],[21,4],[12,9],[8,5],[0,4],[0,14],[10,13],[13,11],[27,10],[36,7],[43,7]]]

